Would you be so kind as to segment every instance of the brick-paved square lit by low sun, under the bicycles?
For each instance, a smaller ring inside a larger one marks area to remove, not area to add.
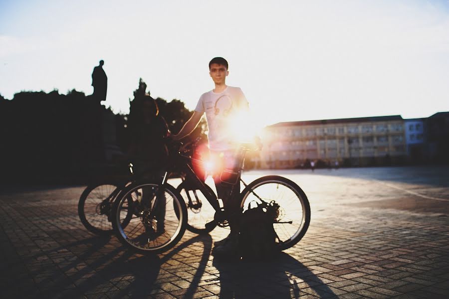
[[[87,232],[83,187],[0,195],[2,298],[448,298],[449,168],[277,171],[309,197],[305,237],[265,263],[210,256],[186,232],[159,256]],[[274,171],[269,171],[273,173]],[[266,172],[250,172],[248,181]]]

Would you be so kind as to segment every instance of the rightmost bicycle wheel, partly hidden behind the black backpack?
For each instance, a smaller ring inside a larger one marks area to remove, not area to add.
[[[277,175],[263,176],[245,187],[240,196],[243,212],[251,201],[274,201],[279,205],[273,227],[280,250],[292,247],[306,233],[310,223],[310,205],[304,191],[293,181]]]

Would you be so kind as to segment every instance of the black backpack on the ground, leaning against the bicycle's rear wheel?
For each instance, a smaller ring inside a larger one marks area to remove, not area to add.
[[[273,228],[278,208],[274,201],[269,204],[250,202],[240,219],[238,243],[242,259],[266,259],[279,252]]]

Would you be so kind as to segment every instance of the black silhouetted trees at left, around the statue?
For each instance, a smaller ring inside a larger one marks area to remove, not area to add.
[[[138,126],[142,99],[150,97],[140,79],[130,100],[129,115],[113,114],[75,89],[60,94],[58,90],[22,91],[11,100],[0,94],[0,174],[3,182],[39,181],[84,182],[85,178],[107,172],[104,141],[99,136],[103,126],[115,126],[117,145],[126,152],[133,126]],[[169,129],[178,133],[190,118],[180,100],[167,102],[157,98],[160,115]],[[105,123],[102,115],[112,115]],[[194,133],[204,134],[206,123]],[[109,131],[114,131],[110,130]],[[109,171],[109,170],[108,170]]]

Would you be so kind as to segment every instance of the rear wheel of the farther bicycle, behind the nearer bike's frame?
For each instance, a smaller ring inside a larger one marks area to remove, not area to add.
[[[214,190],[206,185],[214,194]],[[216,228],[214,221],[215,209],[209,203],[201,190],[192,188],[184,181],[176,188],[187,205],[187,230],[196,234],[207,234]],[[207,225],[206,225],[207,224]]]

